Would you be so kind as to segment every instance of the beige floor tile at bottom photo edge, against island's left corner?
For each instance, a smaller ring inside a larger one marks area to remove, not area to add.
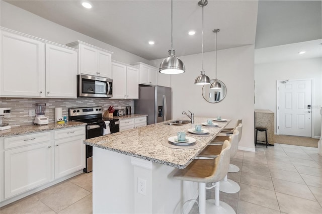
[[[92,194],[78,200],[67,208],[61,210],[59,214],[92,214],[93,213],[93,197]]]

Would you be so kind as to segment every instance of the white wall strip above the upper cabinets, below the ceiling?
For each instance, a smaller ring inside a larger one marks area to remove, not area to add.
[[[65,28],[4,1],[0,2],[0,7],[2,27],[62,45],[74,42],[76,40],[81,40],[91,45],[114,52],[112,55],[113,60],[128,64],[134,62],[148,63],[148,60],[142,57],[93,39],[69,28]]]

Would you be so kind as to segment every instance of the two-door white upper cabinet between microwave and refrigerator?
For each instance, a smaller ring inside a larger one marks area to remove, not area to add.
[[[138,99],[138,69],[120,62],[112,62],[114,99]]]

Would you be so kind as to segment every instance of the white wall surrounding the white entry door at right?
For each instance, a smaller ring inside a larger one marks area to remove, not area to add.
[[[314,138],[321,132],[321,78],[322,58],[311,58],[296,61],[273,62],[255,65],[255,109],[268,109],[274,112],[276,133],[276,81],[312,79],[312,130]]]

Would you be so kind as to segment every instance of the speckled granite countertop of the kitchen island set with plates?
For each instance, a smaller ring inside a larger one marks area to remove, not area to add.
[[[184,118],[184,120],[187,120],[187,118]],[[207,118],[195,117],[195,124],[201,124],[206,121]],[[151,124],[124,132],[87,139],[84,143],[94,147],[183,169],[187,167],[188,164],[229,123],[229,121],[217,122],[220,128],[203,127],[203,129],[207,129],[211,134],[214,134],[212,136],[189,136],[195,138],[197,142],[200,142],[201,146],[198,148],[174,149],[162,145],[162,142],[168,141],[168,138],[171,136],[176,136],[179,131],[187,131],[192,128],[192,125],[189,123],[183,126],[170,126],[167,125],[169,122],[170,121]]]

